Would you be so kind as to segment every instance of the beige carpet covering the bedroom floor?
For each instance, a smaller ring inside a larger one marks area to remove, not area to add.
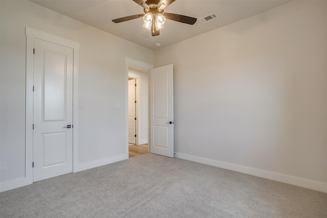
[[[327,217],[327,193],[145,154],[0,194],[4,217]]]

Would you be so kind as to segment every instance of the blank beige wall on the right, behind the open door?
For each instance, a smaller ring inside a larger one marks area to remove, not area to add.
[[[155,51],[155,67],[170,63],[178,157],[327,192],[327,2],[291,2]]]

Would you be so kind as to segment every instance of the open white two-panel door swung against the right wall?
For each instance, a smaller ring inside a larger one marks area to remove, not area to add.
[[[150,152],[174,157],[173,64],[150,70]]]

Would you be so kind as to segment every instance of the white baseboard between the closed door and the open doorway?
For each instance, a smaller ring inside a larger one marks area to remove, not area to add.
[[[123,155],[114,156],[114,157],[110,157],[110,158],[104,158],[104,159],[95,160],[95,161],[91,161],[91,162],[79,163],[79,164],[74,165],[74,173],[77,173],[80,171],[85,171],[86,169],[90,169],[90,168],[94,168],[94,167],[98,167],[98,166],[103,166],[103,165],[106,165],[109,163],[126,160],[126,159],[128,159],[128,155],[123,154]]]

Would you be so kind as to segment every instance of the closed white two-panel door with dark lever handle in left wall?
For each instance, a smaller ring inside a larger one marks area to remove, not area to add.
[[[33,181],[73,172],[73,49],[34,39]]]

